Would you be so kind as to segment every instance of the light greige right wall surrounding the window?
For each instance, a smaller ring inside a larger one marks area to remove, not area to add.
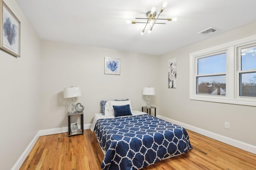
[[[256,107],[189,99],[189,54],[256,34],[256,23],[172,51],[160,58],[160,115],[256,146]],[[199,36],[199,35],[198,35]],[[177,88],[168,89],[168,59],[177,59]],[[230,129],[224,122],[230,122]]]

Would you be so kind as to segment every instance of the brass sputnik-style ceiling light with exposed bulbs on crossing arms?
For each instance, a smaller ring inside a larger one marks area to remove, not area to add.
[[[156,17],[157,15],[157,12],[156,12],[156,7],[152,7],[151,8],[151,11],[148,11],[146,13],[146,17],[147,18],[135,18],[135,19],[138,19],[138,20],[147,20],[147,22],[136,22],[136,21],[132,21],[131,23],[132,24],[135,24],[135,23],[146,23],[144,29],[142,29],[140,35],[143,35],[144,32],[145,32],[145,29],[146,29],[146,26],[149,24],[150,25],[150,29],[148,30],[148,33],[151,33],[152,29],[153,29],[153,26],[155,24],[166,24],[166,23],[156,23],[157,20],[167,20],[167,21],[177,21],[178,18],[177,17],[174,17],[174,18],[167,18],[167,19],[164,19],[164,18],[158,18],[160,16],[160,14],[164,11],[164,8],[167,6],[167,2],[165,1],[163,4],[162,4],[162,8],[160,9],[160,12],[158,13],[158,16]]]

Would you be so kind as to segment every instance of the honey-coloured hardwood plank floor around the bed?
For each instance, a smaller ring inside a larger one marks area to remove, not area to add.
[[[256,155],[187,130],[193,147],[187,154],[142,170],[255,170]],[[104,154],[94,132],[39,137],[20,170],[101,170]]]

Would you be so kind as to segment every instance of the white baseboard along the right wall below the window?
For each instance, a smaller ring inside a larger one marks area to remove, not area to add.
[[[217,141],[226,143],[226,144],[231,145],[233,147],[237,147],[239,149],[246,150],[247,152],[251,152],[253,154],[256,154],[256,146],[254,146],[254,145],[250,145],[248,143],[244,143],[244,142],[238,141],[236,139],[225,137],[225,136],[219,135],[217,133],[206,131],[204,129],[201,129],[201,128],[198,128],[198,127],[195,127],[195,126],[192,126],[192,125],[188,125],[186,123],[182,123],[182,122],[176,121],[174,119],[169,119],[169,118],[161,116],[161,115],[158,115],[157,117],[160,118],[160,119],[163,119],[165,121],[172,122],[174,124],[180,125],[180,126],[184,127],[185,129],[188,129],[190,131],[199,133],[199,134],[204,135],[206,137],[210,137],[212,139],[215,139]]]

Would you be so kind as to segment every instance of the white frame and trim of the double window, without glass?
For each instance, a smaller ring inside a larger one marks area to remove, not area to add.
[[[239,70],[241,68],[239,49],[254,43],[256,43],[256,35],[190,53],[190,100],[256,106],[255,97],[239,96],[239,73],[244,72]],[[198,59],[221,52],[226,52],[226,96],[196,94]]]

